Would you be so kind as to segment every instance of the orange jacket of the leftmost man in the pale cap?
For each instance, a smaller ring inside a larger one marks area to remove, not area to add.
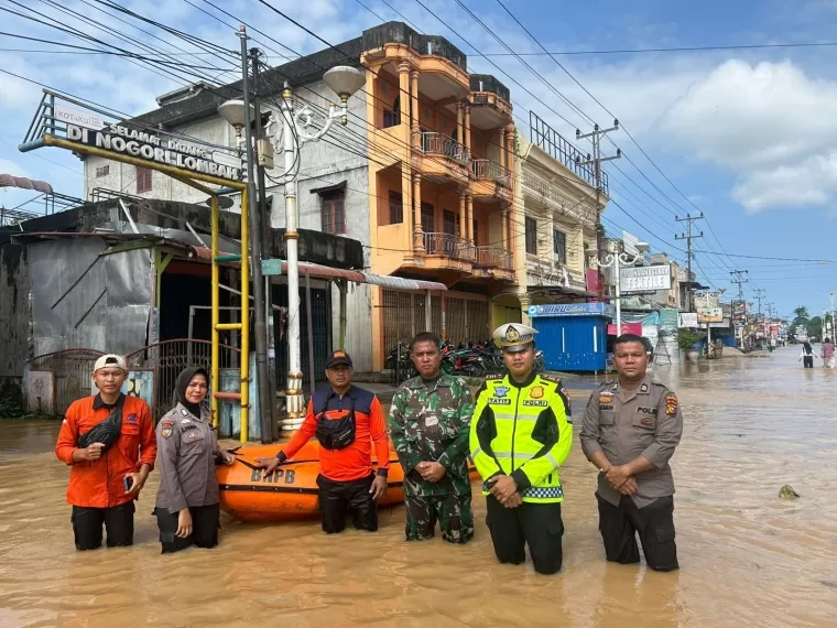
[[[74,401],[61,426],[55,455],[72,465],[67,502],[87,508],[111,508],[131,501],[124,494],[124,476],[138,473],[140,466],[154,468],[156,436],[148,403],[126,397],[122,407],[122,433],[111,447],[94,462],[73,462],[80,434],[108,418],[110,411],[96,403],[96,397]]]

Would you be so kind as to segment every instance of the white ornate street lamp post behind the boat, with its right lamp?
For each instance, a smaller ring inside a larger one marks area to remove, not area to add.
[[[313,111],[307,107],[294,110],[293,91],[285,82],[282,91],[281,119],[272,112],[267,126],[267,134],[276,151],[284,153],[284,193],[285,193],[285,256],[287,258],[287,386],[285,389],[286,420],[284,430],[296,429],[305,413],[305,398],[302,392],[302,359],[300,350],[300,258],[296,231],[296,176],[300,172],[300,149],[305,142],[313,142],[325,136],[339,120],[348,122],[348,100],[366,83],[362,71],[349,66],[333,67],[323,75],[325,84],[340,98],[340,105],[331,104],[328,117],[322,129],[308,131],[312,126]],[[281,129],[281,140],[280,140]]]

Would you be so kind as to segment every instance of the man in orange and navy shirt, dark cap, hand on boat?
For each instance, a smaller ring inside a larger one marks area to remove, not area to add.
[[[293,458],[312,436],[319,441],[319,512],[323,530],[343,532],[352,513],[358,530],[378,530],[378,499],[387,492],[390,443],[378,398],[351,385],[351,358],[334,351],[326,365],[329,387],[317,390],[308,402],[305,421],[274,458],[256,458],[272,474]],[[372,470],[372,443],[378,473]]]

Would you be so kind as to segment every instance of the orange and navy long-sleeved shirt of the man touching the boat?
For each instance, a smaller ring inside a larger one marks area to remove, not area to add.
[[[319,470],[324,477],[333,481],[352,481],[369,477],[372,473],[372,443],[378,457],[378,473],[385,476],[390,468],[390,442],[387,437],[387,424],[383,420],[381,402],[378,398],[362,388],[352,386],[343,399],[330,388],[317,390],[308,401],[305,421],[296,434],[282,447],[286,458],[296,455],[317,431],[317,412],[325,411],[327,419],[336,420],[346,416],[349,400],[355,401],[355,442],[345,450],[319,450]]]

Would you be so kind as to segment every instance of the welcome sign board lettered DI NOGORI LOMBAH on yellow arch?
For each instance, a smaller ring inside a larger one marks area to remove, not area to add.
[[[239,181],[241,177],[241,160],[230,153],[173,138],[161,138],[116,123],[106,124],[100,130],[67,123],[67,140],[230,181]]]

